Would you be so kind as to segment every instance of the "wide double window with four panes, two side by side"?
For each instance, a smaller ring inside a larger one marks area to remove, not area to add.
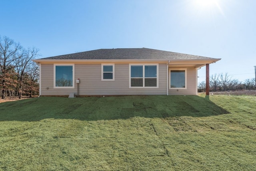
[[[130,64],[129,88],[158,88],[158,64]]]

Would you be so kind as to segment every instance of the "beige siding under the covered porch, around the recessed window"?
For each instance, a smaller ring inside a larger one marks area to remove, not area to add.
[[[171,67],[169,67],[171,68]],[[175,67],[177,68],[177,67]],[[169,89],[168,94],[169,95],[196,95],[197,90],[196,90],[196,68],[194,67],[180,67],[180,68],[187,68],[187,89]],[[174,69],[174,68],[171,68]],[[170,79],[170,73],[169,74],[169,79]],[[170,83],[169,83],[170,84]],[[168,85],[170,86],[170,85]]]

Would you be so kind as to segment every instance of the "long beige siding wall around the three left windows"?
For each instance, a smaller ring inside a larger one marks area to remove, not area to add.
[[[53,88],[53,64],[41,65],[42,95],[77,94],[73,89]],[[166,64],[159,64],[158,88],[129,88],[129,64],[115,64],[115,80],[101,80],[101,64],[75,64],[75,80],[80,79],[79,95],[165,95]],[[49,87],[49,89],[46,89]]]

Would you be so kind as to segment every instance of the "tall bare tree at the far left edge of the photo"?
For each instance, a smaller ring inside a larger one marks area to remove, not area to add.
[[[17,53],[22,49],[19,43],[15,43],[14,40],[4,36],[0,37],[0,74],[1,74],[1,87],[2,87],[2,99],[5,98],[4,91],[6,89],[6,82],[10,76],[10,71],[13,70],[14,60],[20,58]]]

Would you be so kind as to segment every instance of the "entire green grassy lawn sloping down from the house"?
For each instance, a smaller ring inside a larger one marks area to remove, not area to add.
[[[256,96],[0,103],[0,170],[256,170]]]

